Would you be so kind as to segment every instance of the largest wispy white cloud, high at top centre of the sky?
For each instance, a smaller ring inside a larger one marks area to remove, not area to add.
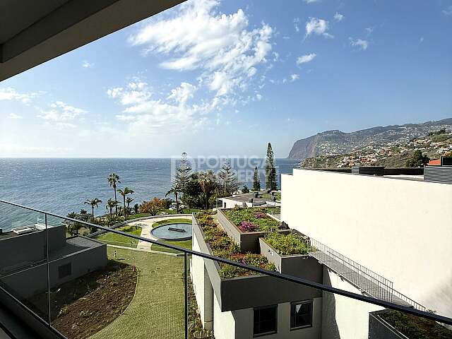
[[[148,23],[129,37],[144,53],[171,54],[160,66],[177,71],[199,70],[201,81],[215,95],[234,95],[248,88],[259,64],[271,52],[273,29],[263,23],[249,29],[242,9],[218,13],[219,1],[189,1],[176,16]]]

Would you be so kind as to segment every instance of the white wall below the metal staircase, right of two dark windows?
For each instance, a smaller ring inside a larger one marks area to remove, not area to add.
[[[353,285],[323,266],[323,283],[340,290],[361,294]],[[322,339],[369,338],[369,312],[382,307],[323,292]]]

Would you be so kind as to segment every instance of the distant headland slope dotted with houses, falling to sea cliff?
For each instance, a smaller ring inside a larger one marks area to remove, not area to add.
[[[350,153],[366,147],[396,145],[442,128],[451,129],[452,118],[422,124],[376,126],[350,133],[338,130],[323,131],[296,141],[287,158],[304,160],[321,155]]]

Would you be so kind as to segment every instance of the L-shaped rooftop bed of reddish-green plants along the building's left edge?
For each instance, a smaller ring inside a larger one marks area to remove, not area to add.
[[[196,217],[198,225],[202,228],[206,242],[210,245],[214,256],[220,258],[237,261],[238,263],[244,263],[249,266],[256,266],[266,270],[276,270],[273,263],[269,263],[268,260],[261,254],[253,253],[241,253],[239,246],[232,242],[230,237],[220,229],[217,222],[213,220],[212,215],[209,212],[199,213]],[[244,275],[256,274],[250,270],[239,268],[237,266],[227,265],[225,263],[220,264],[220,276],[222,278],[234,278]]]

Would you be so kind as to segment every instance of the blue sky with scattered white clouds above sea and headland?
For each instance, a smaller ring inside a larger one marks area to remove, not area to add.
[[[187,1],[0,83],[0,156],[286,157],[452,116],[452,0]]]

